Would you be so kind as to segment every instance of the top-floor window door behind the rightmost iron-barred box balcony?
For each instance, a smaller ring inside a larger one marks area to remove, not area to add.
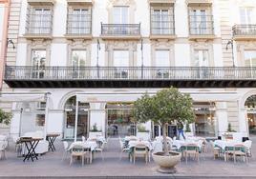
[[[207,12],[206,10],[190,10],[190,33],[207,34]]]

